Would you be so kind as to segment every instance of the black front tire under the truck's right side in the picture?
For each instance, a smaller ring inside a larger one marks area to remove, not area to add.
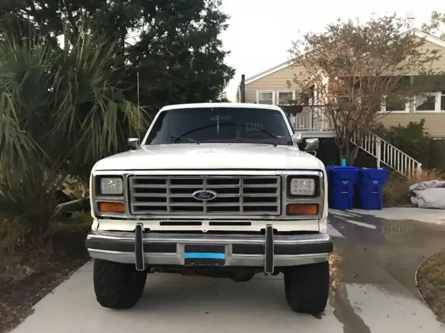
[[[304,314],[323,312],[329,297],[329,262],[287,268],[284,291],[293,311]]]

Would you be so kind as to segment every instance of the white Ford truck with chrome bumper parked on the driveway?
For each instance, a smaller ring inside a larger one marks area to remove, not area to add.
[[[103,307],[130,308],[147,273],[243,282],[284,274],[293,311],[317,314],[329,294],[323,163],[273,105],[170,105],[141,144],[92,168],[94,288]]]

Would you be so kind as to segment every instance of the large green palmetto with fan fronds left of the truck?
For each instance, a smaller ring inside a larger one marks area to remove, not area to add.
[[[148,123],[113,86],[123,63],[115,44],[88,26],[64,37],[56,49],[38,36],[0,40],[0,211],[19,216],[10,221],[31,242],[49,230],[60,183],[88,178]]]

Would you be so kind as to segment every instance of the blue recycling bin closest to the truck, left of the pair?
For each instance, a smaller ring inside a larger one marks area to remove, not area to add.
[[[328,199],[330,207],[336,210],[352,210],[354,207],[355,184],[358,171],[356,167],[332,167],[331,186]]]

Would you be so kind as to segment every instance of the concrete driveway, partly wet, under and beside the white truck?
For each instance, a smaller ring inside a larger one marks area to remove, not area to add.
[[[332,286],[321,316],[289,309],[282,275],[237,283],[154,274],[135,308],[104,309],[88,263],[13,332],[445,332],[414,280],[421,260],[445,247],[442,219],[443,211],[414,208],[332,211]]]

